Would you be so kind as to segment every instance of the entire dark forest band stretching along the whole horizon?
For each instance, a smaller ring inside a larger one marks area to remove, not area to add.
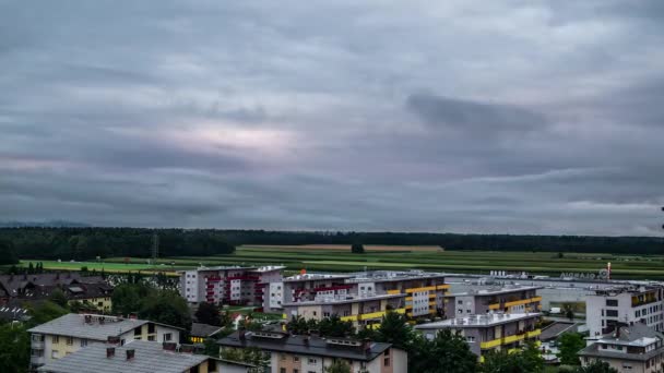
[[[94,260],[151,255],[158,236],[163,256],[228,254],[236,245],[364,244],[438,245],[444,250],[660,254],[656,237],[458,234],[144,228],[0,228],[1,264],[17,258]]]

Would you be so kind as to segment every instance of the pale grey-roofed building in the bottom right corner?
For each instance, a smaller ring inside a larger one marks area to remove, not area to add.
[[[664,345],[662,333],[643,324],[617,325],[592,345],[579,351],[581,364],[595,360],[608,363],[618,372],[664,372]]]

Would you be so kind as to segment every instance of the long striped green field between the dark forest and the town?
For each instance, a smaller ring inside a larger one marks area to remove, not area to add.
[[[24,261],[28,262],[28,261]],[[36,262],[36,261],[33,261]],[[108,258],[106,263],[43,262],[45,268],[80,269],[87,266],[106,272],[150,270],[144,258]],[[218,256],[179,256],[161,258],[158,270],[173,272],[192,268],[199,264],[215,265],[266,265],[283,264],[290,270],[363,270],[410,269],[451,273],[488,274],[489,270],[523,270],[534,275],[559,276],[562,272],[597,273],[612,262],[613,278],[664,279],[664,256],[613,255],[565,253],[558,257],[550,252],[491,252],[491,251],[411,251],[407,246],[394,251],[370,251],[352,254],[339,249],[297,246],[239,246],[234,254]],[[164,265],[161,265],[164,264]]]

